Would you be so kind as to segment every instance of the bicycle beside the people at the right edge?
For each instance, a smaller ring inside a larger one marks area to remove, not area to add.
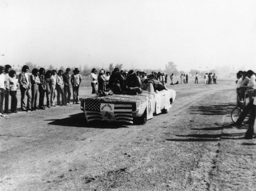
[[[237,91],[237,99],[239,101],[239,104],[237,107],[235,107],[231,111],[231,119],[232,119],[233,123],[236,123],[238,121],[238,118],[242,114],[244,107],[247,105],[246,99],[249,97],[249,94],[248,94],[249,91],[251,91],[251,89],[249,89],[249,90],[247,89],[245,91],[244,98],[242,98],[242,99],[240,99],[239,92]]]

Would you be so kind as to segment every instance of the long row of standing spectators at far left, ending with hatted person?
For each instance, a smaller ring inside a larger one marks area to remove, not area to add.
[[[70,102],[70,82],[73,87],[73,104],[79,104],[79,87],[82,77],[78,68],[73,70],[72,75],[70,75],[70,68],[67,68],[65,73],[61,69],[58,72],[55,69],[45,72],[45,68],[42,67],[33,68],[31,75],[28,74],[28,71],[29,66],[24,65],[17,80],[16,71],[12,70],[10,65],[0,66],[0,118],[4,116],[4,113],[17,112],[18,84],[22,111],[45,109],[45,97],[48,108],[56,106],[55,98],[57,98],[57,105],[59,106],[72,104]],[[9,96],[11,96],[11,111],[9,111]],[[27,103],[25,103],[26,97]],[[5,108],[3,108],[4,100]]]

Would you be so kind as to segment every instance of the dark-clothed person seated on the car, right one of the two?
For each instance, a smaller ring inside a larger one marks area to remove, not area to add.
[[[137,95],[142,93],[142,83],[140,78],[130,70],[126,80],[124,81],[124,88],[127,94]]]

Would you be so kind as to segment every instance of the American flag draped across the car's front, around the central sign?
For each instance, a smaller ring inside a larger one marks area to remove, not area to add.
[[[84,111],[88,122],[102,120],[104,113],[100,112],[100,99],[86,99],[84,102]],[[117,122],[126,122],[133,124],[132,104],[114,103],[114,115]]]

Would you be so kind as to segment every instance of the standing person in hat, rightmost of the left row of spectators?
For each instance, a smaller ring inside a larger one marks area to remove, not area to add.
[[[82,82],[82,76],[79,74],[78,68],[73,70],[73,75],[71,76],[71,84],[73,87],[73,104],[79,104],[79,87]]]

